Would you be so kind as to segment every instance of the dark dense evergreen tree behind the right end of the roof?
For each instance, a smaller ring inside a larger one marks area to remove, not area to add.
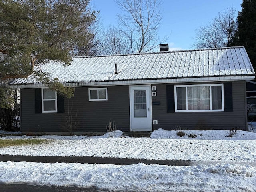
[[[243,0],[238,12],[238,29],[230,46],[244,46],[256,70],[256,0]]]

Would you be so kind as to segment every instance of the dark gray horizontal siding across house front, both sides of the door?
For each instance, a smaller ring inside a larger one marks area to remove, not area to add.
[[[188,84],[210,84],[188,83]],[[212,82],[216,83],[216,82]],[[217,82],[223,83],[223,82]],[[227,129],[237,127],[246,130],[246,92],[245,81],[233,81],[233,112],[174,112],[167,113],[166,85],[156,86],[157,96],[152,102],[160,105],[152,106],[152,120],[158,120],[153,130],[162,128],[174,130],[181,126],[184,129]],[[181,84],[174,84],[181,85]],[[89,101],[88,88],[76,87],[74,97],[65,98],[65,113],[35,113],[34,88],[21,89],[21,130],[22,132],[62,132],[65,118],[72,112],[72,120],[76,120],[77,129],[81,132],[106,132],[106,125],[111,119],[116,122],[117,129],[130,131],[129,86],[103,86],[108,88],[107,101]],[[93,87],[95,88],[95,87]]]

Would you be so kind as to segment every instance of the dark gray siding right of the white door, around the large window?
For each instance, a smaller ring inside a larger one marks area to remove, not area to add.
[[[212,82],[223,83],[223,82]],[[192,83],[188,83],[192,84]],[[204,83],[193,83],[204,84]],[[210,83],[205,83],[210,84]],[[175,84],[181,85],[181,84]],[[183,84],[184,85],[184,84]],[[233,81],[233,112],[174,112],[166,113],[166,84],[155,84],[157,96],[152,101],[160,101],[160,105],[152,106],[152,120],[158,120],[158,125],[153,125],[153,130],[175,130],[178,126],[183,129],[227,129],[237,127],[247,130],[245,82]]]

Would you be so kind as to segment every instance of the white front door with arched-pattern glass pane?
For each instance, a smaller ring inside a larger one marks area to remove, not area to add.
[[[130,131],[152,131],[151,86],[130,86]]]

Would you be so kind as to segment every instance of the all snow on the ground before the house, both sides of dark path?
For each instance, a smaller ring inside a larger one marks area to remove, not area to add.
[[[254,124],[249,126],[255,131]],[[50,186],[96,186],[110,191],[256,191],[256,133],[159,129],[151,138],[129,138],[121,131],[104,136],[2,136],[44,138],[50,143],[0,148],[0,154],[94,156],[159,160],[212,161],[209,165],[166,166],[79,163],[0,162],[0,182]],[[195,136],[196,135],[196,136]],[[192,138],[191,136],[195,136]],[[214,161],[228,163],[214,163]],[[238,162],[243,162],[238,164]]]

